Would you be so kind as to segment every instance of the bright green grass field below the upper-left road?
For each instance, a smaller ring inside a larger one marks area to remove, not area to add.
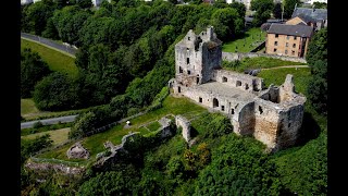
[[[75,59],[72,57],[25,39],[21,39],[21,48],[30,48],[38,52],[52,71],[67,73],[71,76],[77,75],[78,70],[75,65]]]

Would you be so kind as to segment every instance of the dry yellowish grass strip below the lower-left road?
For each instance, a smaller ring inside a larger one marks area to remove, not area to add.
[[[70,127],[65,127],[65,128],[61,128],[61,130],[30,134],[30,135],[22,136],[21,138],[34,139],[37,136],[42,136],[45,134],[49,134],[51,136],[51,139],[53,140],[53,145],[59,145],[59,144],[62,144],[67,140],[67,133],[70,132],[70,130],[71,130]]]

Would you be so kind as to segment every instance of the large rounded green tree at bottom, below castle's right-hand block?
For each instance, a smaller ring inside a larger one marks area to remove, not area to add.
[[[212,163],[203,169],[195,195],[279,195],[275,164],[252,138],[228,135],[212,151]]]

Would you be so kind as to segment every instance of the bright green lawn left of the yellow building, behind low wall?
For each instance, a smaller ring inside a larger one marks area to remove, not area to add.
[[[259,27],[250,28],[248,32],[246,32],[246,36],[244,38],[223,44],[222,51],[250,52],[250,50],[254,49],[257,46],[259,46],[259,44],[265,40],[265,35],[266,33],[261,33],[261,29]]]

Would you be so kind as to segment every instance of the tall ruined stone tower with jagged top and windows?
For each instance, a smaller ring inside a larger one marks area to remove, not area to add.
[[[196,35],[191,29],[175,45],[175,77],[182,87],[207,83],[213,77],[213,70],[221,68],[222,41],[213,27]],[[182,90],[175,89],[175,90]]]

